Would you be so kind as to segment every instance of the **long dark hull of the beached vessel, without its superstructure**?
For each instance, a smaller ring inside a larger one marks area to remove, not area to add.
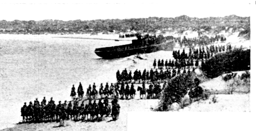
[[[127,49],[127,50],[112,50],[112,51],[94,51],[98,56],[102,57],[103,59],[114,59],[114,58],[121,58],[127,57],[135,54],[143,54],[143,53],[151,53],[160,50],[171,51],[174,47],[173,41],[168,41],[165,43],[145,46],[140,48],[134,49]]]

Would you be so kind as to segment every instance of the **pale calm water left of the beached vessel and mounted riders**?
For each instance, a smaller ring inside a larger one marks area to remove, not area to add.
[[[51,38],[49,36],[0,35],[0,129],[22,120],[24,102],[43,96],[55,103],[70,100],[73,84],[115,82],[115,72],[133,61],[100,59],[95,48],[130,41]],[[27,104],[28,105],[28,104]]]

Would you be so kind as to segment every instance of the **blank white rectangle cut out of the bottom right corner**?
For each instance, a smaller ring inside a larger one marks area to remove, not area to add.
[[[251,112],[128,112],[127,131],[256,130]]]

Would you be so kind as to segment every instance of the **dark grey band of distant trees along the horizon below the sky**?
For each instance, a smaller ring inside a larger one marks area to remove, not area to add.
[[[162,29],[176,29],[192,27],[196,30],[211,30],[212,26],[220,29],[225,27],[250,28],[250,17],[230,15],[226,17],[191,18],[179,16],[175,18],[131,18],[131,19],[106,19],[106,20],[42,20],[42,21],[0,21],[0,33],[13,34],[44,34],[44,33],[87,33],[87,32],[113,32],[127,30],[156,32]]]

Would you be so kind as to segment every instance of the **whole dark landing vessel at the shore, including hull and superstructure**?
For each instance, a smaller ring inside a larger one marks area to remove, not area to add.
[[[114,59],[126,57],[134,54],[151,53],[160,50],[172,50],[174,47],[173,40],[166,40],[161,36],[136,35],[137,39],[132,40],[131,44],[104,47],[95,49],[95,53],[103,59]]]

